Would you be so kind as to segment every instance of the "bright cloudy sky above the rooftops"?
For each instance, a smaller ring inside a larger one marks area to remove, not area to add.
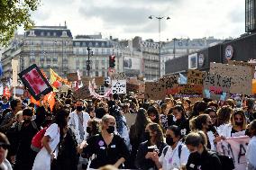
[[[104,37],[161,40],[214,36],[235,38],[244,33],[244,0],[41,0],[32,13],[36,25],[64,25],[73,36],[101,32]]]

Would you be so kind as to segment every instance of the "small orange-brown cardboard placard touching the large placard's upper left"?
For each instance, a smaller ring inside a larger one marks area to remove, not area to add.
[[[203,85],[205,73],[196,69],[188,69],[187,84]]]

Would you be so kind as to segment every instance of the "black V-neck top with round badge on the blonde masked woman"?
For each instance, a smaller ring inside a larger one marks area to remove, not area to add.
[[[84,149],[84,153],[89,156],[96,155],[96,158],[91,162],[90,168],[97,169],[101,166],[114,165],[121,157],[125,160],[129,157],[129,150],[124,140],[118,135],[114,135],[108,146],[105,144],[101,134],[87,139],[87,144],[88,146]]]

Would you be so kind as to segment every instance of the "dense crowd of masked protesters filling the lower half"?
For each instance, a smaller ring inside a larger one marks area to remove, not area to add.
[[[39,105],[2,97],[0,169],[220,170],[226,167],[217,142],[245,135],[251,137],[246,168],[256,169],[253,99],[147,101],[131,93],[75,100],[69,91],[55,100],[50,110],[43,96]],[[132,126],[127,114],[136,116]]]

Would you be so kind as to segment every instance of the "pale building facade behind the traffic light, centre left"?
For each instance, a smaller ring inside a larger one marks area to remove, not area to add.
[[[123,71],[122,52],[118,41],[103,39],[98,35],[79,35],[73,40],[74,58],[71,62],[73,71],[79,71],[82,76],[88,76],[87,60],[90,48],[89,76],[108,76],[109,56],[115,56],[115,71]]]

